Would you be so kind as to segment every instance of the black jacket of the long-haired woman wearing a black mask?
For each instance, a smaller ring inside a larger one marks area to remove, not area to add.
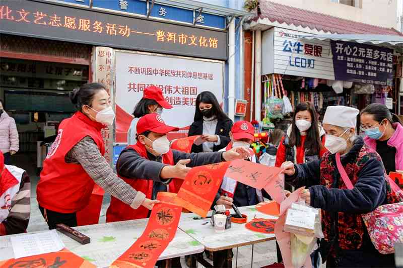
[[[216,135],[220,136],[221,139],[221,144],[220,145],[214,145],[213,147],[213,152],[217,152],[221,150],[222,148],[225,148],[228,143],[231,141],[230,137],[230,131],[232,128],[232,125],[234,123],[232,122],[231,119],[226,119],[224,121],[218,120],[217,122],[217,127],[216,127]],[[202,135],[203,134],[203,120],[198,120],[194,121],[193,124],[191,124],[189,128],[189,134],[188,136],[195,136],[195,135]],[[192,146],[191,152],[193,153],[199,153],[203,152],[203,144],[200,145],[194,145]]]

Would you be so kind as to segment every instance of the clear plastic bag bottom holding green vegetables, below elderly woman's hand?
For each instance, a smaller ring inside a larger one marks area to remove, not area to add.
[[[311,239],[306,239],[303,236],[291,233],[291,262],[294,267],[302,267],[304,265],[306,258],[310,256],[316,244],[316,240],[317,238],[311,237]]]

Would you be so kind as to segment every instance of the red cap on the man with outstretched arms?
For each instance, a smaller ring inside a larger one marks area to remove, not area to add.
[[[147,114],[137,122],[137,134],[152,131],[159,134],[166,134],[171,131],[178,131],[179,128],[165,125],[159,114]]]

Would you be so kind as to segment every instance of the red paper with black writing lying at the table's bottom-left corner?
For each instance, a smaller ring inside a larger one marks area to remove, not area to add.
[[[57,252],[23,257],[18,259],[0,260],[0,267],[60,267],[60,268],[95,268],[89,261],[77,256],[68,249]]]

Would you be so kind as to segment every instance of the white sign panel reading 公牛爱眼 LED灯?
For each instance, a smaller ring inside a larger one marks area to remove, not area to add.
[[[334,79],[330,43],[304,40],[303,32],[274,27],[262,34],[262,74]]]

